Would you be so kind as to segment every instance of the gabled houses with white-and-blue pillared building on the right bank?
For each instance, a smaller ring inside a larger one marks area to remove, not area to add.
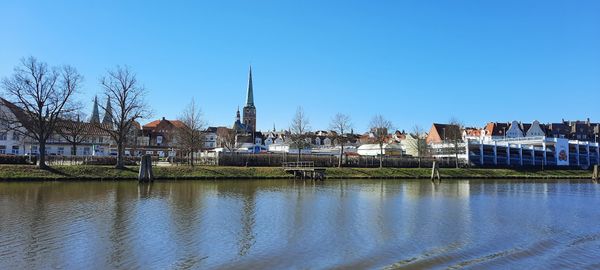
[[[433,124],[427,143],[434,157],[458,157],[476,166],[577,166],[600,164],[600,123],[490,122],[483,128]]]

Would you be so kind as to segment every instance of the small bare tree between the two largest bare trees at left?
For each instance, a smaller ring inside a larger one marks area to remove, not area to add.
[[[85,114],[80,110],[65,114],[56,124],[58,134],[71,144],[71,155],[77,155],[77,146],[90,137],[92,124],[85,123]]]

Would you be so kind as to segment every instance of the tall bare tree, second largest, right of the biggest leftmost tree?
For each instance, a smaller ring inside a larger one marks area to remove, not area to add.
[[[132,134],[131,130],[138,119],[148,118],[151,114],[145,101],[146,90],[138,82],[136,74],[127,66],[118,66],[107,71],[106,76],[100,79],[100,85],[104,88],[104,96],[111,107],[106,108],[109,107],[107,105],[101,108],[110,115],[112,124],[98,126],[107,132],[117,145],[116,168],[123,169],[127,136]]]

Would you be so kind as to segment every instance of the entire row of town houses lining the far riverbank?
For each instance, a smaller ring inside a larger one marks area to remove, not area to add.
[[[9,112],[19,120],[19,110],[1,99],[2,111]],[[106,106],[110,109],[109,106]],[[57,129],[47,144],[48,155],[59,156],[109,156],[116,155],[116,145],[106,131],[111,119],[100,121],[98,104],[94,102],[89,120],[65,120],[63,128]],[[65,125],[68,124],[68,125]],[[0,154],[37,155],[38,145],[23,136],[25,131],[2,129],[0,125]],[[179,120],[157,119],[146,124],[135,123],[129,134],[125,154],[139,156],[150,154],[159,157],[176,156],[180,151],[177,130],[185,124]],[[76,143],[69,128],[82,130]],[[104,127],[104,128],[101,128]],[[404,131],[387,132],[383,151],[375,142],[373,131],[364,134],[337,134],[320,130],[304,134],[304,147],[293,146],[291,133],[286,130],[261,132],[249,128],[240,119],[239,110],[231,127],[208,127],[203,131],[202,153],[250,152],[250,153],[310,153],[320,155],[366,155],[377,156],[433,156],[458,157],[473,165],[591,165],[597,163],[600,124],[585,121],[559,123],[490,122],[482,128],[461,127],[452,124],[432,124],[428,133],[411,134]],[[423,152],[419,145],[424,144]],[[558,148],[566,148],[559,153]],[[567,162],[565,163],[565,156]]]

